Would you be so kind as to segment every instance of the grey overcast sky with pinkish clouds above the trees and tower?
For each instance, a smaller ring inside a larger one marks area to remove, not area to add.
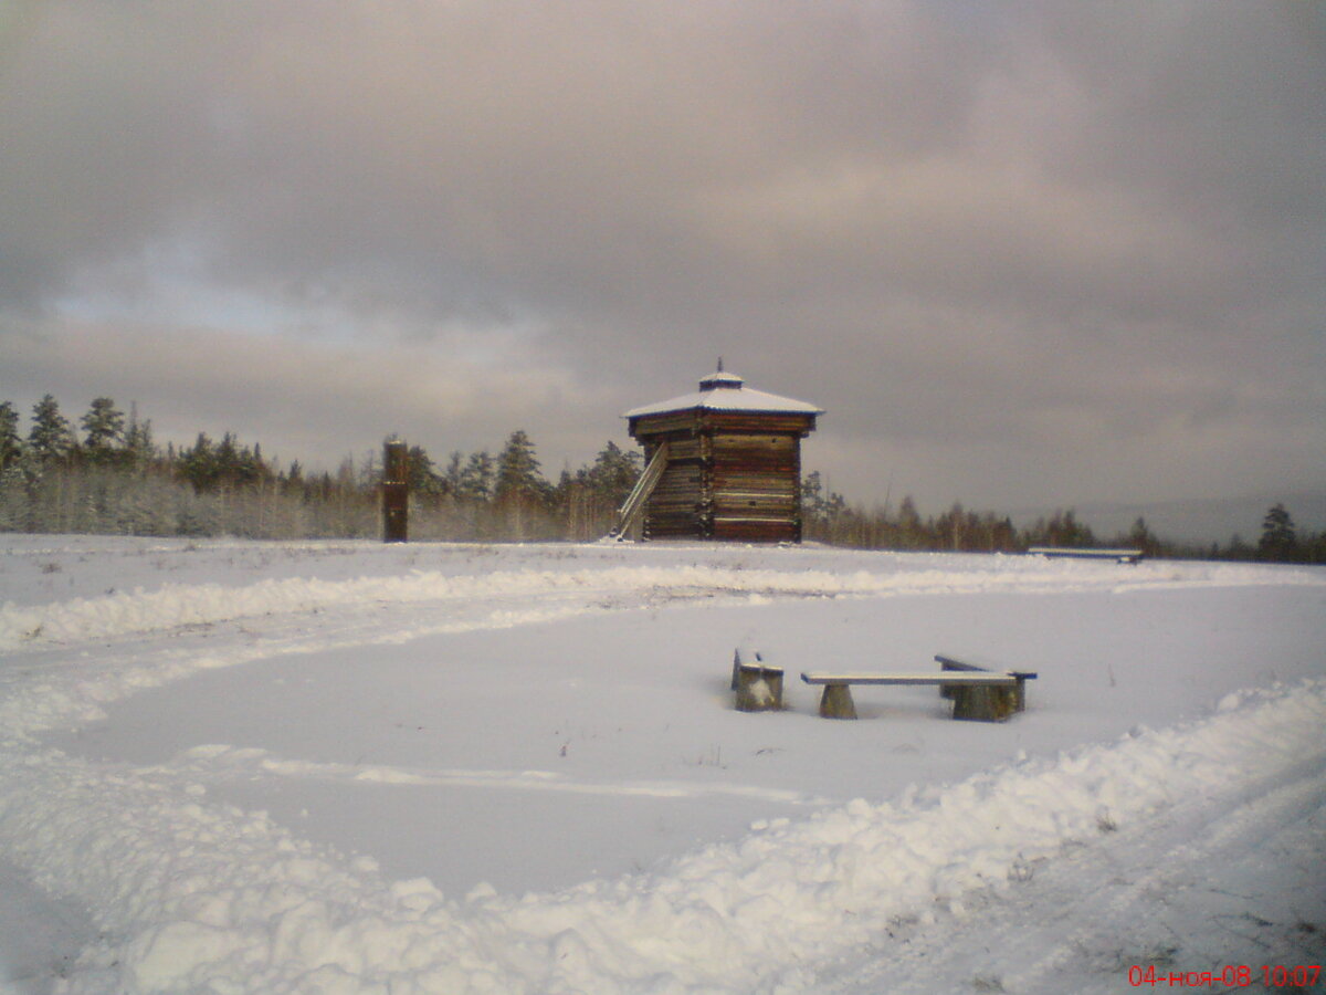
[[[0,5],[24,430],[556,479],[719,356],[867,504],[1326,490],[1326,4]]]

